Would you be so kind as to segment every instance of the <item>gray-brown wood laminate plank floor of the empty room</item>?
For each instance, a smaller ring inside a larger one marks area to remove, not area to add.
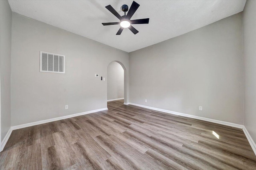
[[[12,131],[0,169],[256,170],[242,129],[123,102]]]

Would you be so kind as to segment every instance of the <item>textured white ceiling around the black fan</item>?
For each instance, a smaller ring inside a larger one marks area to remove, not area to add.
[[[246,0],[136,0],[140,7],[132,20],[150,18],[149,24],[133,25],[116,35],[119,21],[105,6],[111,5],[121,16],[123,4],[132,0],[9,0],[13,12],[82,35],[111,47],[131,52],[182,35],[238,12]]]

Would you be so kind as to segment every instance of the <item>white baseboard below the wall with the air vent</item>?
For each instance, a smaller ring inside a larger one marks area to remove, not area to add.
[[[58,120],[62,120],[62,119],[68,119],[70,117],[86,115],[86,114],[89,114],[89,113],[94,113],[94,112],[103,111],[103,110],[107,110],[107,109],[108,108],[105,107],[105,108],[102,108],[102,109],[85,111],[85,112],[76,113],[76,114],[73,114],[73,115],[67,115],[67,116],[56,117],[56,118],[52,118],[52,119],[46,119],[46,120],[36,121],[36,122],[32,122],[32,123],[26,123],[26,124],[22,124],[22,125],[12,126],[12,130],[21,129],[21,128],[24,128],[24,127],[30,127],[30,126],[34,126],[34,125],[40,125],[40,124],[43,124],[43,123],[49,123],[49,122],[52,122],[52,121],[58,121]]]

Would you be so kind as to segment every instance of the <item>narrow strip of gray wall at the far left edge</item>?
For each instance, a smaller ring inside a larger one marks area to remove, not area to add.
[[[1,140],[11,127],[11,28],[11,8],[7,0],[0,0]]]

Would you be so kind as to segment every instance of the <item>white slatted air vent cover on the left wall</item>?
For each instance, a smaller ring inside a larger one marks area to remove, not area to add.
[[[40,72],[65,73],[65,56],[40,51]]]

